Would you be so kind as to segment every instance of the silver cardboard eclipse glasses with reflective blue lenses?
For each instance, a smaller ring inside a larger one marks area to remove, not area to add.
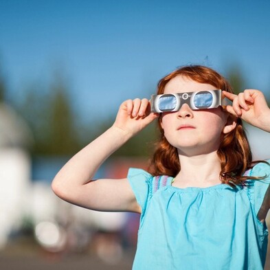
[[[151,95],[150,103],[151,111],[154,113],[179,111],[184,103],[188,104],[192,110],[212,109],[232,104],[227,98],[222,98],[221,89]]]

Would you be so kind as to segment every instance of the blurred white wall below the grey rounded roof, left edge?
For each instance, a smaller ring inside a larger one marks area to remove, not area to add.
[[[19,148],[0,148],[0,249],[19,228],[30,190],[30,157]]]

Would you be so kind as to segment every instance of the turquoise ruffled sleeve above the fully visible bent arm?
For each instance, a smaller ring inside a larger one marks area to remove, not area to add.
[[[153,176],[142,169],[130,168],[128,170],[128,181],[135,194],[137,203],[142,207],[142,214],[146,210],[148,196],[150,194],[150,183]]]

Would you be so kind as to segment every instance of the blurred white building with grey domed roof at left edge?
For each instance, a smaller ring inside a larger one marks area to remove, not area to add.
[[[0,103],[0,249],[21,225],[30,190],[32,133],[22,117]]]

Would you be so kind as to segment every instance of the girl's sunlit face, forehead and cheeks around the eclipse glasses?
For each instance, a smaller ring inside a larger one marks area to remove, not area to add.
[[[177,76],[170,80],[164,93],[215,90],[216,87],[190,78]],[[168,142],[178,148],[179,153],[201,155],[218,150],[221,133],[227,122],[227,113],[221,107],[192,111],[183,104],[179,111],[162,113],[161,126]]]

